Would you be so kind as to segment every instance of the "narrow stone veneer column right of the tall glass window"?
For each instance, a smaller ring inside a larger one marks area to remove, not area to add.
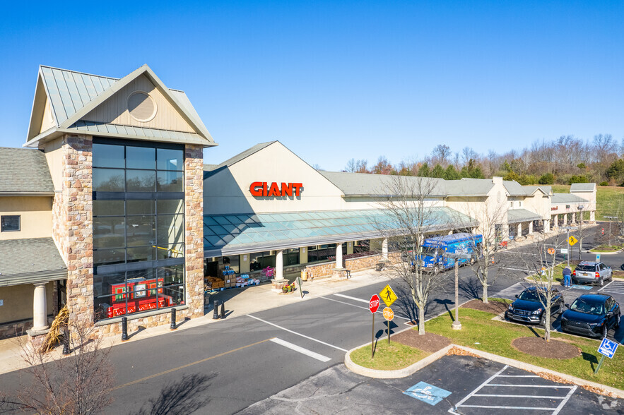
[[[204,148],[184,150],[184,267],[187,315],[204,315]]]

